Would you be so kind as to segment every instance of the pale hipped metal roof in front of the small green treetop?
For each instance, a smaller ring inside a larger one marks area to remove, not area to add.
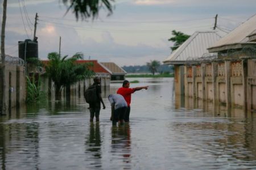
[[[197,31],[163,62],[187,61],[202,57],[207,48],[221,38],[216,31]]]

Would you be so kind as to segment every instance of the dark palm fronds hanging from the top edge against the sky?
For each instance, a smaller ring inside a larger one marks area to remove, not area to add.
[[[109,15],[113,12],[112,2],[114,0],[62,0],[65,5],[68,6],[68,10],[72,10],[75,13],[76,19],[81,17],[82,19],[97,17],[101,8],[106,8]],[[67,14],[66,12],[66,14]]]

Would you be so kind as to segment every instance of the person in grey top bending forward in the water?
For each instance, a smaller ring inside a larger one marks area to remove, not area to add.
[[[120,125],[123,124],[123,117],[127,109],[127,103],[122,95],[119,94],[113,94],[109,95],[109,102],[111,104],[111,117],[110,120],[112,120],[112,125],[117,125],[117,122],[120,123]]]

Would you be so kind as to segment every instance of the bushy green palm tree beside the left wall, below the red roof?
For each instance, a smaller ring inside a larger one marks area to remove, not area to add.
[[[54,82],[56,100],[60,100],[63,87],[66,87],[66,96],[69,96],[71,84],[94,75],[94,72],[89,69],[90,64],[76,62],[82,58],[82,53],[76,53],[71,58],[61,57],[56,52],[48,54],[49,63],[46,65],[46,73]]]

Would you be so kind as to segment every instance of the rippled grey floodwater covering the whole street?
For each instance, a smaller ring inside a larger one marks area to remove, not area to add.
[[[89,122],[88,105],[51,101],[0,120],[2,169],[256,169],[255,113],[226,112],[181,100],[172,78],[135,78],[130,124],[112,127],[106,109]],[[134,80],[134,79],[129,79]]]

